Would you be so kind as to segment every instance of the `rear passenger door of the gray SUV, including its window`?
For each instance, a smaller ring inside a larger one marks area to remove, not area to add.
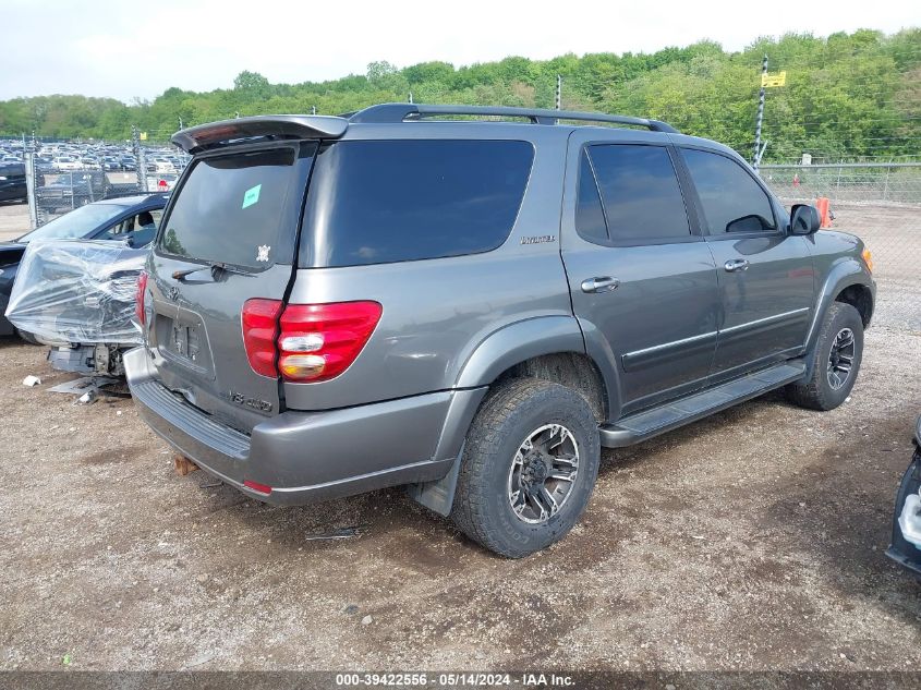
[[[703,387],[716,347],[716,267],[672,150],[629,135],[639,141],[570,137],[561,244],[575,316],[617,372],[611,420]]]

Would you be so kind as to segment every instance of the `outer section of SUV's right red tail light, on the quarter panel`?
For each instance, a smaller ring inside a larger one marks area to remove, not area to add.
[[[377,302],[289,304],[278,336],[281,376],[292,382],[338,376],[358,359],[381,311]]]

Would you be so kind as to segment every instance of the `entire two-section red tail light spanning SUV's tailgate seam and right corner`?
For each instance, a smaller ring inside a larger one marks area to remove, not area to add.
[[[289,304],[282,311],[278,300],[247,300],[243,341],[250,366],[290,382],[335,378],[358,359],[381,311],[377,302]]]

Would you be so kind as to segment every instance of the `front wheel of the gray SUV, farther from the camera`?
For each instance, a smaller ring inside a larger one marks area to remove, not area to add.
[[[848,340],[850,346],[846,344]],[[787,398],[801,408],[834,410],[850,395],[862,359],[863,320],[860,313],[850,304],[833,302],[825,312],[812,353],[812,376],[787,386]],[[841,371],[845,366],[849,366],[847,372]]]

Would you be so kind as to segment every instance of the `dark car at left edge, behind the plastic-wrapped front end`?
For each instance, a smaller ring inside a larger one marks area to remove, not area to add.
[[[81,206],[12,242],[0,242],[0,336],[15,332],[3,315],[16,278],[20,259],[33,240],[124,240],[130,246],[147,245],[156,233],[168,195],[149,194],[106,199]],[[26,337],[27,340],[31,338]]]

